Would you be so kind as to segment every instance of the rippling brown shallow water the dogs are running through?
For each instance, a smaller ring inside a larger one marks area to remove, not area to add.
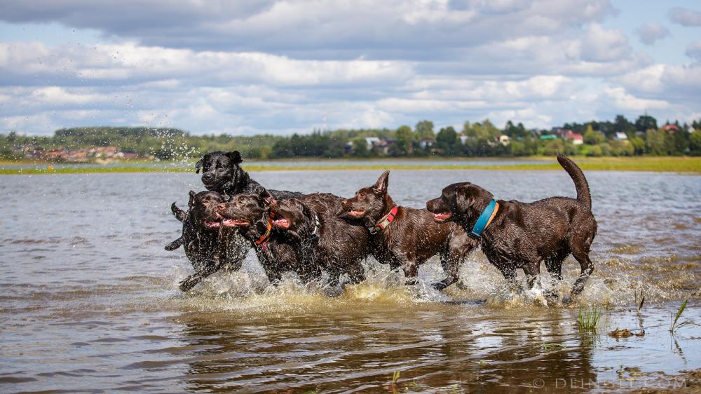
[[[350,196],[379,171],[252,172],[275,189]],[[482,252],[464,288],[428,287],[370,259],[369,280],[336,299],[287,278],[268,287],[252,254],[188,294],[169,205],[187,173],[0,177],[0,392],[484,392],[674,388],[648,379],[701,367],[701,329],[669,333],[670,313],[701,323],[701,177],[587,172],[599,233],[578,303],[510,294]],[[422,207],[452,182],[497,198],[574,196],[564,171],[393,171],[397,203]],[[566,291],[578,264],[565,262]],[[544,270],[543,270],[544,271]],[[546,282],[545,280],[543,282]],[[645,302],[639,313],[639,292]],[[596,332],[577,317],[603,312]],[[615,339],[616,327],[644,337]],[[392,384],[393,373],[399,379]]]

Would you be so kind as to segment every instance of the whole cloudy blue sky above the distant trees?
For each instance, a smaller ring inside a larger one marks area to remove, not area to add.
[[[0,133],[701,118],[701,1],[3,0]]]

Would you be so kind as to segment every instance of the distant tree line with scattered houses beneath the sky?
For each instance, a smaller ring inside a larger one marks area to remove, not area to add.
[[[314,130],[311,134],[191,135],[176,128],[84,127],[56,130],[53,136],[0,134],[0,156],[18,159],[27,149],[83,149],[115,146],[123,152],[161,160],[199,156],[207,151],[238,149],[247,158],[375,158],[461,156],[498,157],[552,155],[562,151],[586,156],[701,156],[701,119],[658,125],[649,115],[628,121],[565,123],[551,130],[526,129],[508,121],[498,128],[489,120],[465,122],[462,130],[435,130],[433,122],[396,130]]]

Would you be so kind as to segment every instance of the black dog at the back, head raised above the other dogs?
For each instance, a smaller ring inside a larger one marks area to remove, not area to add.
[[[242,162],[238,151],[210,152],[195,163],[195,172],[201,170],[205,188],[222,194],[226,200],[241,193],[260,194],[265,188],[240,167]],[[284,190],[270,190],[270,193],[278,199],[301,196],[301,193]]]

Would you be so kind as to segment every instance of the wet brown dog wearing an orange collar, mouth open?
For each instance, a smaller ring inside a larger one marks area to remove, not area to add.
[[[281,242],[276,233],[274,219],[270,215],[273,196],[265,189],[257,194],[238,194],[229,203],[217,206],[222,217],[222,231],[236,232],[254,247],[258,261],[268,280],[277,285],[285,272],[297,273],[305,283],[320,278],[318,266],[304,264],[302,250],[289,242]]]

